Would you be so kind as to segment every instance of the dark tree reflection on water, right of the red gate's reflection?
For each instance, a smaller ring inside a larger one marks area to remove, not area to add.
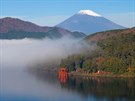
[[[79,92],[83,96],[95,96],[108,99],[135,99],[135,79],[69,77],[67,89]]]

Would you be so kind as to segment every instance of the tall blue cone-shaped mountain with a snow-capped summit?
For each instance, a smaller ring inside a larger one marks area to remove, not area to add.
[[[56,26],[70,31],[83,32],[87,35],[106,30],[125,28],[91,10],[80,10],[78,13]]]

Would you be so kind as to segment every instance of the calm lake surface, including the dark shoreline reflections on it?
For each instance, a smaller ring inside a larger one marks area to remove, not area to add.
[[[0,69],[0,101],[135,101],[135,79],[68,77]]]

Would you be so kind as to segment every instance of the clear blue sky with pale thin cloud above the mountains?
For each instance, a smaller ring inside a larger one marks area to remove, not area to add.
[[[0,0],[1,18],[17,17],[42,26],[54,26],[82,9],[135,26],[135,0]]]

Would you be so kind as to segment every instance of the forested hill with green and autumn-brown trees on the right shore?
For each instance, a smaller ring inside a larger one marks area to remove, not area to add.
[[[135,76],[135,28],[96,33],[85,41],[96,41],[97,48],[63,59],[61,67],[80,74],[99,72]]]

